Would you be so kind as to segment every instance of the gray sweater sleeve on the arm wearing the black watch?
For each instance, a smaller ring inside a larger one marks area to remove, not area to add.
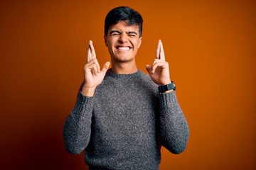
[[[183,152],[188,142],[189,130],[175,91],[160,94],[159,120],[161,145],[174,154]]]

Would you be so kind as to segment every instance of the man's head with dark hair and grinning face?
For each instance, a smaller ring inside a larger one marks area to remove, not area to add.
[[[142,16],[127,6],[113,8],[105,18],[105,45],[112,64],[135,62],[142,44]]]

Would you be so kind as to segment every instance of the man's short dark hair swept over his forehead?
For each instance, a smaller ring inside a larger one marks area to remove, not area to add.
[[[129,26],[133,24],[138,24],[139,26],[139,37],[142,36],[142,16],[134,9],[129,8],[128,6],[119,6],[113,8],[105,18],[105,30],[104,34],[107,35],[107,31],[110,26],[119,23],[119,21],[127,21]]]

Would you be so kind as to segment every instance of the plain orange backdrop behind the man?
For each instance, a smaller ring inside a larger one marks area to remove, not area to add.
[[[162,149],[162,170],[256,169],[255,1],[1,1],[0,169],[87,169],[65,151],[87,43],[110,60],[104,19],[116,6],[144,17],[143,71],[164,43],[191,130],[188,147]]]

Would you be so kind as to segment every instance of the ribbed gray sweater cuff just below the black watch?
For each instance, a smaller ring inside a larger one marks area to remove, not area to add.
[[[171,91],[170,93],[160,93],[160,107],[161,108],[174,108],[178,105],[176,92]]]

